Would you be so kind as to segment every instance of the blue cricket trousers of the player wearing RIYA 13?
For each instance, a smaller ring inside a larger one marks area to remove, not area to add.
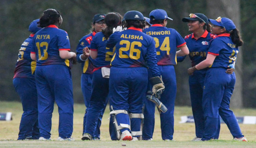
[[[59,136],[70,138],[73,132],[73,85],[70,69],[65,65],[37,66],[38,123],[40,136],[50,138],[54,101],[59,111]]]

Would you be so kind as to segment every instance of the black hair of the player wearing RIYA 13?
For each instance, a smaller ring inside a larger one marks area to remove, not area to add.
[[[47,27],[48,25],[54,25],[56,22],[59,22],[61,14],[58,10],[47,9],[43,12],[39,22],[37,23],[39,27]]]

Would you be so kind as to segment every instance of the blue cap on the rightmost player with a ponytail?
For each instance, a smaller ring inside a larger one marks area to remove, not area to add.
[[[224,27],[227,31],[236,29],[236,25],[231,19],[218,17],[217,19],[209,19],[213,25]]]

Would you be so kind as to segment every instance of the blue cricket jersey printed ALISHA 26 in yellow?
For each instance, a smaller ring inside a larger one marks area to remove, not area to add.
[[[143,33],[141,29],[129,27],[125,31],[113,33],[108,39],[107,47],[114,46],[116,50],[111,66],[148,67],[153,77],[160,76],[154,38]]]

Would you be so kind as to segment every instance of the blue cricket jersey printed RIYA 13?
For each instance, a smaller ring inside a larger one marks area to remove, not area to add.
[[[33,39],[34,48],[31,53],[36,54],[36,65],[61,64],[71,66],[68,59],[62,59],[59,50],[70,50],[67,32],[55,25],[49,25],[38,31]]]

